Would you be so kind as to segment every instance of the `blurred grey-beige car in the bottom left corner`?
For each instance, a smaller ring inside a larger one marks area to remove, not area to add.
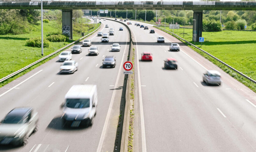
[[[31,107],[12,109],[0,123],[0,144],[24,146],[38,130],[38,113]]]

